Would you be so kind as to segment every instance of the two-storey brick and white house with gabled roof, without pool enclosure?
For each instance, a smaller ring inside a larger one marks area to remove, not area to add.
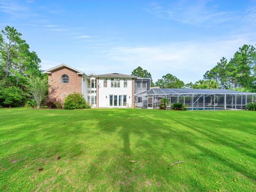
[[[49,99],[63,102],[70,93],[81,93],[92,107],[134,107],[134,94],[150,90],[150,79],[112,74],[85,74],[65,64],[45,70]]]

